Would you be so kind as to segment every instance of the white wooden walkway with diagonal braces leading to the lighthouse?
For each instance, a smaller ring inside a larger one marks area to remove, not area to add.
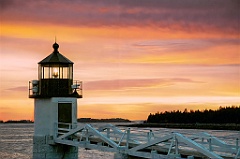
[[[49,144],[62,144],[85,149],[114,152],[116,159],[131,158],[240,158],[239,141],[235,145],[208,133],[184,136],[173,132],[167,135],[149,132],[131,132],[107,124],[94,128],[90,124],[56,123],[55,135]]]

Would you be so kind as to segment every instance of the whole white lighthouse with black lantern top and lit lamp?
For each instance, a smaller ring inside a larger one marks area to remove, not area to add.
[[[29,82],[34,99],[33,159],[77,159],[78,147],[54,143],[54,139],[77,127],[77,99],[82,82],[73,80],[73,62],[62,55],[59,45],[38,63],[38,80]]]

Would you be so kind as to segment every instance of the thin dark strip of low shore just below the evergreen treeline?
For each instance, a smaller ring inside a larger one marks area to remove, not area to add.
[[[207,130],[240,130],[240,124],[215,124],[215,123],[196,123],[196,124],[183,124],[183,123],[141,123],[141,124],[128,124],[117,125],[124,127],[139,127],[139,128],[174,128],[174,129],[207,129]]]

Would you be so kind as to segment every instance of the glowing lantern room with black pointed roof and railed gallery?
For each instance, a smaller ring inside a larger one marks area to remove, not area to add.
[[[29,83],[30,98],[81,97],[81,82],[73,81],[73,62],[58,51],[53,44],[53,53],[38,63],[38,80]]]

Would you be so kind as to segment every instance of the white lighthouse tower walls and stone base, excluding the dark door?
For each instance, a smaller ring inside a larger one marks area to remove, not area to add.
[[[71,103],[71,124],[77,125],[77,98],[36,98],[34,100],[33,159],[78,158],[78,147],[53,142],[57,133],[59,103]]]

